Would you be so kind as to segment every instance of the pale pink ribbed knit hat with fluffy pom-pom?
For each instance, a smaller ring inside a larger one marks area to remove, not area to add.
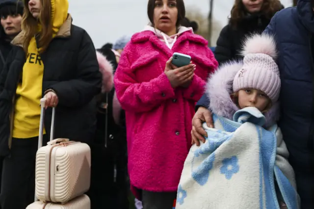
[[[237,72],[233,91],[254,88],[263,91],[275,103],[279,99],[280,74],[274,61],[277,57],[276,43],[267,34],[253,35],[244,42],[243,67]]]

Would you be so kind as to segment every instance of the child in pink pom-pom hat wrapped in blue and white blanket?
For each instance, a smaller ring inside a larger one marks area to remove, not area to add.
[[[178,209],[298,208],[294,171],[276,125],[281,80],[275,41],[266,34],[253,35],[241,53],[243,61],[220,66],[208,80],[215,128],[204,123],[206,142],[189,151]]]

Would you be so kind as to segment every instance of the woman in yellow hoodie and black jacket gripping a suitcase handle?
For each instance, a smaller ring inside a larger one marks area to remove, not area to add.
[[[24,6],[22,32],[0,75],[1,209],[25,209],[33,201],[40,99],[47,98],[43,145],[52,106],[55,137],[90,143],[102,85],[94,45],[72,25],[68,0],[24,0]]]

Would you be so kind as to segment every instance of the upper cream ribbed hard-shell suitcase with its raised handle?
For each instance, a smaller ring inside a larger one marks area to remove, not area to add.
[[[40,201],[66,203],[90,186],[90,147],[69,139],[53,139],[55,108],[52,109],[51,141],[41,147],[45,99],[41,100],[39,143],[36,154],[35,196]],[[65,127],[66,128],[66,127]],[[36,201],[36,198],[35,198]]]

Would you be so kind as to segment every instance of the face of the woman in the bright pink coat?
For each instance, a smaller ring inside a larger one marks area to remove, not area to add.
[[[176,30],[178,8],[176,0],[156,0],[154,26],[164,33]]]

